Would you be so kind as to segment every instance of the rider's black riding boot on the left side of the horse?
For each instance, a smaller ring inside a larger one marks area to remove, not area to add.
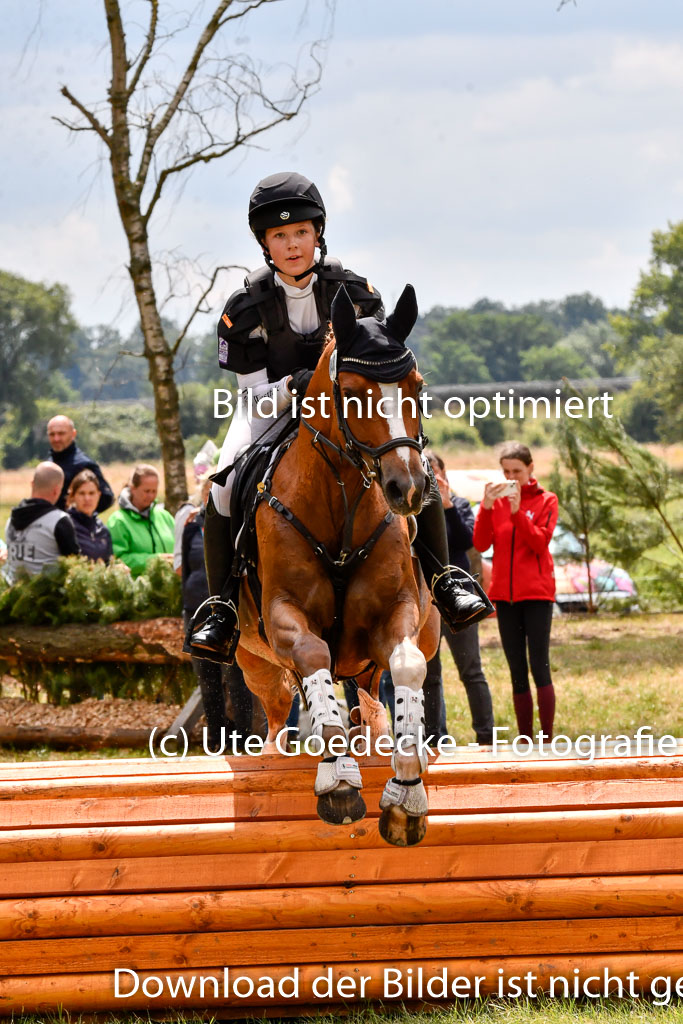
[[[187,643],[196,657],[231,662],[238,629],[237,602],[230,592],[238,583],[231,577],[234,548],[229,517],[219,514],[212,498],[204,517],[204,559],[212,597],[211,614],[199,629],[193,629]]]

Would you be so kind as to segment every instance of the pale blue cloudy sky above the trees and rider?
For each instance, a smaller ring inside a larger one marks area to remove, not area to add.
[[[211,4],[167,6],[199,22]],[[154,249],[259,265],[249,194],[265,174],[298,169],[326,199],[330,251],[388,301],[410,281],[423,311],[579,291],[626,304],[650,232],[682,216],[683,7],[557,6],[338,0],[305,117],[263,148],[197,170],[160,208]],[[86,101],[105,94],[101,7],[23,0],[3,11],[0,267],[62,282],[83,324],[125,329],[135,317],[106,165],[94,136],[51,119],[69,116],[63,83]],[[265,65],[290,60],[323,10],[322,0],[268,5],[239,45]],[[178,39],[171,74],[182,52]],[[216,311],[239,284],[223,283]],[[182,304],[171,311],[180,317]]]

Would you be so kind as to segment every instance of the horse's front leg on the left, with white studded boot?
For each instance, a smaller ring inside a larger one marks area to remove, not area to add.
[[[266,622],[270,645],[281,664],[301,679],[311,718],[319,737],[323,760],[317,766],[317,814],[329,824],[347,824],[366,815],[356,761],[347,754],[348,737],[342,725],[332,679],[330,648],[311,630],[301,608],[286,599],[272,602]]]

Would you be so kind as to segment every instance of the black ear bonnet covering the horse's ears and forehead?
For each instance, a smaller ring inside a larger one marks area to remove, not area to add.
[[[355,318],[355,308],[342,285],[332,301],[332,328],[336,348],[330,374],[360,374],[382,384],[395,383],[410,374],[417,360],[405,339],[418,318],[415,289],[407,285],[396,308],[381,324],[374,316]]]

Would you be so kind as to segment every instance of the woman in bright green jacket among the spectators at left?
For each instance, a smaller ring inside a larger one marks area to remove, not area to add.
[[[136,466],[130,483],[119,497],[119,508],[106,521],[114,554],[134,577],[147,561],[161,556],[173,559],[173,516],[156,502],[159,473],[154,466]]]

